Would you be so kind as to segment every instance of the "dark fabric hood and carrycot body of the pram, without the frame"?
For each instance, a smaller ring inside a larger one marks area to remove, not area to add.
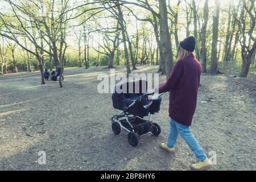
[[[116,85],[114,91],[115,92],[112,94],[113,107],[123,110],[124,107],[138,100],[139,96],[147,93],[147,81],[136,80],[124,82],[123,84]],[[160,110],[161,100],[160,97],[157,100],[153,100],[152,104],[147,108],[143,106],[144,103],[136,102],[127,112],[139,117],[144,117],[148,115],[148,113],[154,114]]]

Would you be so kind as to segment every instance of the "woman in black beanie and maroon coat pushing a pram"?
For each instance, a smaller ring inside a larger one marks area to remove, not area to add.
[[[192,169],[206,170],[212,168],[213,165],[189,128],[196,110],[197,91],[201,75],[201,64],[192,53],[195,50],[195,44],[196,39],[193,36],[180,42],[178,61],[168,80],[159,87],[159,93],[170,92],[169,116],[171,118],[168,141],[161,143],[160,147],[174,153],[174,145],[178,135],[180,135],[199,160],[198,163],[191,166]]]

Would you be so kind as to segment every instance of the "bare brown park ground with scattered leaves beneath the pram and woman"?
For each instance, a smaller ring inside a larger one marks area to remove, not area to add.
[[[157,67],[135,72],[155,73]],[[117,67],[117,72],[126,72]],[[168,94],[153,116],[162,127],[141,137],[137,147],[127,133],[115,135],[111,94],[99,94],[104,67],[67,68],[63,88],[40,85],[40,73],[0,76],[0,170],[190,170],[195,156],[180,137],[176,154],[160,149],[169,133]],[[166,77],[160,76],[160,83]],[[255,170],[256,76],[201,76],[192,132],[207,154],[216,152],[211,170]],[[39,151],[46,164],[38,163]],[[212,153],[212,154],[213,154]]]

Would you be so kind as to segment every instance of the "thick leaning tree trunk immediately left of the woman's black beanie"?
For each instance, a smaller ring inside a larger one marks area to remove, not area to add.
[[[163,58],[166,77],[168,78],[172,67],[174,67],[174,58],[171,47],[171,38],[168,27],[167,7],[165,0],[159,0],[159,26],[160,26],[160,42],[163,47]]]

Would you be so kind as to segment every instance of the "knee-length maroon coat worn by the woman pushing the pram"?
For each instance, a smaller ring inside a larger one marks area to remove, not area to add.
[[[193,53],[177,61],[159,93],[170,92],[169,116],[182,125],[191,126],[196,110],[201,64]]]

